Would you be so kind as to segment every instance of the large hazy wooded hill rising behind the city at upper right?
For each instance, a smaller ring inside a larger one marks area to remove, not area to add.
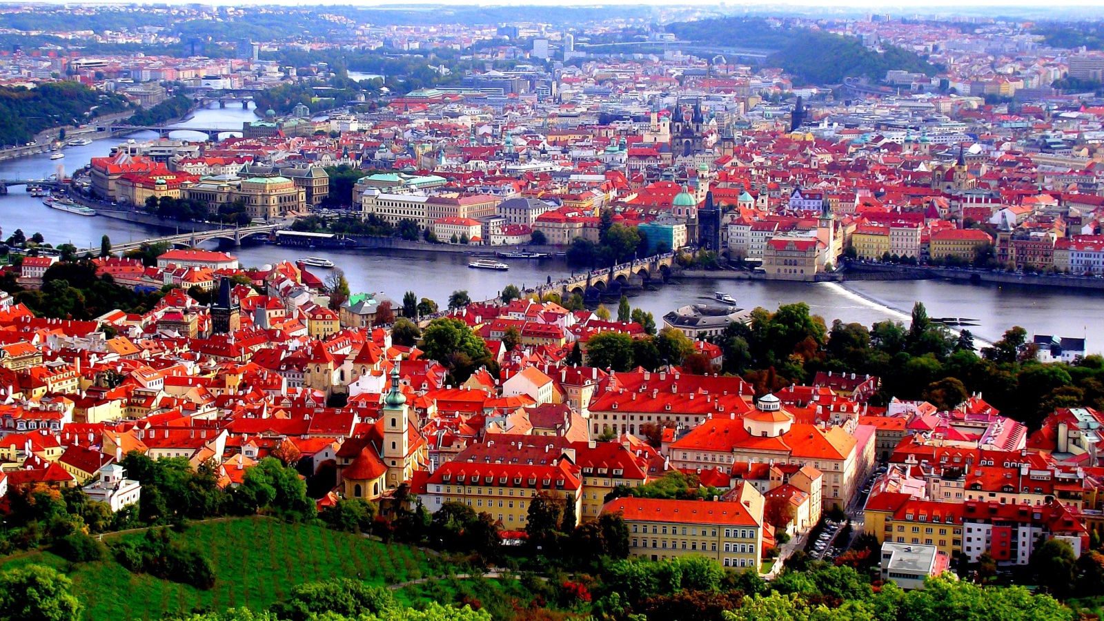
[[[682,41],[773,51],[766,66],[782,67],[798,83],[839,84],[849,76],[877,81],[894,69],[927,75],[936,72],[934,65],[901,48],[872,52],[853,36],[786,24],[774,27],[762,18],[679,22],[669,24],[668,30]]]

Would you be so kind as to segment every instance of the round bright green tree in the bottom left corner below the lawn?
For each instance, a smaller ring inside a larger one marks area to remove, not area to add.
[[[79,621],[73,582],[52,567],[26,565],[0,573],[0,620]]]

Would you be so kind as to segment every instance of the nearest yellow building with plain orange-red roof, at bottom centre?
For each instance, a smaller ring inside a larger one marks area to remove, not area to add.
[[[762,504],[753,513],[739,502],[615,498],[602,511],[620,513],[625,518],[630,556],[661,560],[703,555],[724,567],[758,570],[763,554]]]

